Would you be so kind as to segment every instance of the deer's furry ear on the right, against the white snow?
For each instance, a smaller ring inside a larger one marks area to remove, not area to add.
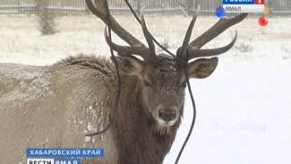
[[[193,61],[188,67],[190,78],[203,79],[210,76],[218,65],[218,57],[201,58]]]

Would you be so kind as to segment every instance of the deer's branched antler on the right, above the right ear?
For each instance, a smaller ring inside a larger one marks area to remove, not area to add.
[[[235,25],[238,22],[242,22],[244,18],[247,16],[247,13],[239,14],[232,18],[221,18],[216,24],[214,24],[209,30],[206,30],[200,37],[194,39],[190,44],[189,40],[191,38],[191,33],[193,30],[194,23],[198,13],[195,13],[193,16],[193,21],[190,23],[188,30],[186,32],[184,42],[182,47],[180,47],[177,56],[181,58],[186,58],[188,51],[188,58],[190,60],[196,57],[202,56],[217,56],[227,52],[231,47],[235,45],[235,41],[237,39],[237,32],[235,30],[235,38],[225,47],[218,47],[213,49],[201,49],[205,44],[210,42],[210,40],[216,38],[223,31],[227,30],[229,27]]]

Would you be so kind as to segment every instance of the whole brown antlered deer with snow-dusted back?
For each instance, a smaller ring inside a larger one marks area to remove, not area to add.
[[[54,65],[0,64],[0,161],[26,163],[26,148],[104,148],[104,158],[83,158],[82,163],[161,164],[171,149],[184,113],[187,67],[189,78],[206,78],[218,65],[218,55],[235,45],[202,49],[246,13],[221,18],[200,37],[191,39],[197,14],[186,31],[176,58],[156,54],[155,44],[141,13],[147,46],[125,30],[106,0],[86,0],[90,12],[129,46],[105,39],[118,54],[121,78],[116,123],[116,70],[104,57],[70,56]],[[178,62],[183,60],[185,64]],[[192,61],[193,60],[193,61]]]

